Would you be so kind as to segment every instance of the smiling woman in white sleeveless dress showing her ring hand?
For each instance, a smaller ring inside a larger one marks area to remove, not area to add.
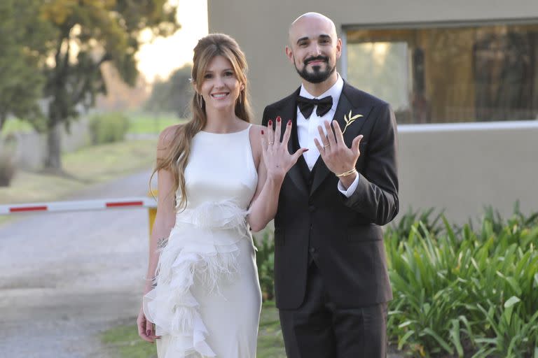
[[[246,72],[233,38],[202,38],[193,117],[159,137],[158,208],[137,325],[160,358],[256,357],[261,293],[249,227],[273,219],[284,176],[305,149],[288,152],[291,122],[281,141],[280,117],[275,131],[249,124]]]

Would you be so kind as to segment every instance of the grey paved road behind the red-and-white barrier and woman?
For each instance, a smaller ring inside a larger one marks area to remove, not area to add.
[[[148,178],[144,171],[71,199],[143,196]],[[147,243],[144,209],[28,215],[1,226],[1,356],[106,357],[98,333],[136,315]]]

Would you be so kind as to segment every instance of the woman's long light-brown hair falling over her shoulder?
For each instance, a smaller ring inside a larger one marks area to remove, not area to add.
[[[243,85],[243,90],[240,92],[237,101],[235,101],[235,115],[245,122],[250,122],[251,108],[249,104],[249,96],[247,91],[247,59],[244,53],[237,45],[237,42],[226,34],[209,34],[198,41],[194,48],[193,56],[193,71],[191,78],[195,86],[195,93],[191,100],[192,119],[186,124],[181,124],[176,127],[171,141],[167,148],[158,148],[166,150],[166,155],[163,158],[157,159],[157,164],[153,175],[160,169],[170,170],[174,175],[174,187],[172,192],[175,194],[179,189],[181,196],[177,203],[178,210],[184,210],[187,205],[187,193],[185,188],[185,168],[188,163],[188,157],[191,153],[191,142],[195,134],[201,131],[207,123],[207,115],[205,113],[205,101],[198,90],[204,80],[204,74],[207,66],[216,56],[222,56],[230,62],[233,72]],[[151,182],[150,178],[150,182]]]

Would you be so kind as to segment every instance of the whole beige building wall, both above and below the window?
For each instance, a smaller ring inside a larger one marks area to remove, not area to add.
[[[247,55],[251,98],[258,122],[266,104],[298,87],[284,55],[289,23],[307,11],[345,26],[446,22],[538,22],[536,0],[208,0],[209,31],[233,36]],[[340,66],[338,70],[341,71]],[[538,210],[538,127],[415,131],[401,128],[401,206],[446,208],[458,222],[492,204],[511,213]]]

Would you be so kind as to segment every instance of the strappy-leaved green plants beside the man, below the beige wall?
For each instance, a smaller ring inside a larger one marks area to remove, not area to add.
[[[387,231],[388,329],[398,347],[419,357],[531,357],[538,346],[537,217],[516,210],[504,222],[486,210],[477,231],[444,217],[438,234],[422,222],[406,237]]]

